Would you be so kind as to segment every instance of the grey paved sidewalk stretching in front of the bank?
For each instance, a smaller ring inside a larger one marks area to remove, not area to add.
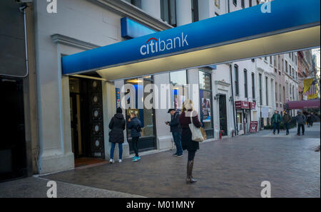
[[[46,197],[46,181],[57,181],[58,197],[254,197],[270,181],[272,197],[320,198],[320,123],[285,136],[264,130],[200,144],[195,184],[185,184],[187,153],[149,154],[132,163],[104,164],[0,184],[0,197]]]

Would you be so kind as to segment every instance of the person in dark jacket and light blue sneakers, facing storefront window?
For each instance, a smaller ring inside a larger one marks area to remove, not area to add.
[[[135,112],[131,112],[130,114],[131,118],[128,120],[128,129],[131,129],[131,142],[135,152],[132,162],[136,162],[141,159],[138,155],[138,139],[141,137],[141,120],[138,120]]]

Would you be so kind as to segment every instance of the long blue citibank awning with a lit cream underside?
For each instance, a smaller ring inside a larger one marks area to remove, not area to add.
[[[116,80],[320,46],[319,0],[270,4],[65,56],[63,74]]]

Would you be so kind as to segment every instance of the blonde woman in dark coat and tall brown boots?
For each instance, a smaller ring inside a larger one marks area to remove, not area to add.
[[[192,140],[192,132],[188,125],[191,123],[190,117],[192,117],[192,122],[195,127],[202,127],[202,124],[198,120],[198,113],[193,110],[192,100],[186,100],[183,102],[183,110],[180,115],[180,127],[182,127],[182,148],[183,150],[188,150],[186,183],[195,183],[196,180],[193,178],[193,164],[195,153],[200,149],[200,144]]]

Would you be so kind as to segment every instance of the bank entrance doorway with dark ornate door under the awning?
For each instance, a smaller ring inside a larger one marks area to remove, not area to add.
[[[75,159],[105,159],[100,80],[70,78],[71,143]],[[77,164],[76,164],[77,166]]]

